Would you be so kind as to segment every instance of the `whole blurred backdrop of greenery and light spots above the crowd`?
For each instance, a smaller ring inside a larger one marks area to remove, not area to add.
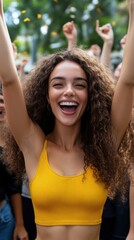
[[[128,11],[123,0],[4,0],[5,18],[12,42],[18,49],[18,59],[30,56],[36,62],[38,55],[65,49],[67,42],[62,26],[74,21],[78,31],[78,45],[102,47],[95,31],[96,19],[100,25],[111,23],[114,30],[113,51],[120,50],[120,39],[126,34]]]

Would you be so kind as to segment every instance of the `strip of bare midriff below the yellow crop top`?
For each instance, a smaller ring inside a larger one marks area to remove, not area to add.
[[[99,240],[100,225],[51,226],[37,225],[36,240]]]

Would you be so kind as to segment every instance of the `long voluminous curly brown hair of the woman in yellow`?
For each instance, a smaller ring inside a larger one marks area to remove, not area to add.
[[[55,118],[48,108],[48,79],[55,66],[66,60],[79,64],[88,82],[88,104],[81,119],[82,149],[85,153],[84,169],[86,171],[87,166],[90,165],[96,179],[105,184],[109,189],[109,195],[112,196],[117,182],[120,188],[126,181],[127,169],[123,164],[124,161],[122,159],[120,161],[112,137],[110,112],[114,86],[112,74],[108,69],[81,49],[61,51],[43,57],[28,75],[23,86],[28,114],[45,135],[53,131]],[[6,155],[10,163],[12,162],[10,165],[17,169],[18,173],[22,173],[23,155],[10,134],[6,139],[8,140]],[[129,137],[125,138],[125,146],[130,143],[128,139]],[[120,152],[121,157],[127,155],[127,151]]]

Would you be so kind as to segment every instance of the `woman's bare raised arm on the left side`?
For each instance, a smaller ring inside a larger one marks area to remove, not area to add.
[[[10,129],[21,147],[31,126],[0,0],[0,80]]]

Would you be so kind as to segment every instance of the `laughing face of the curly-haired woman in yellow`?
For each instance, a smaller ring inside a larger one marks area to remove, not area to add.
[[[55,121],[72,126],[81,121],[88,101],[87,78],[79,64],[59,63],[49,77],[48,101]]]

